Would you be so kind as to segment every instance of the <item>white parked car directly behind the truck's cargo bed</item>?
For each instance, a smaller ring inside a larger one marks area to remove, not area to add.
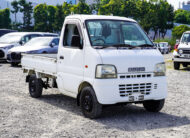
[[[21,54],[42,54],[42,53],[57,53],[59,45],[58,37],[36,37],[32,38],[23,46],[14,47],[8,51],[7,61],[12,66],[16,66],[21,61]]]

